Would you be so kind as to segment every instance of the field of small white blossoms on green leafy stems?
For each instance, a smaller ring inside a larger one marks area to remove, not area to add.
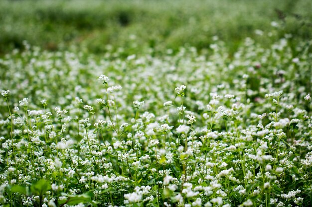
[[[312,41],[271,24],[235,50],[6,52],[0,206],[311,206]]]

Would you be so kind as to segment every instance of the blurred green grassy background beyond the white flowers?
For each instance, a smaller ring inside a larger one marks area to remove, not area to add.
[[[1,0],[0,55],[29,45],[49,51],[209,48],[234,52],[246,37],[263,46],[312,37],[311,0]],[[265,35],[263,35],[265,34]]]

